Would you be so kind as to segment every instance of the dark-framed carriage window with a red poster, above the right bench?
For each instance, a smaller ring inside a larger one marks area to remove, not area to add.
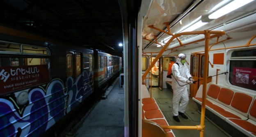
[[[256,91],[256,49],[233,51],[229,60],[229,82]]]

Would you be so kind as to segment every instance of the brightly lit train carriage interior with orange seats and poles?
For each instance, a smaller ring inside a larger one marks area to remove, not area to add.
[[[138,136],[256,136],[255,0],[142,0],[137,23]],[[190,117],[177,123],[170,113],[172,98],[166,96],[171,90],[164,91],[171,89],[169,64],[179,53],[186,55],[197,82],[185,85]],[[191,112],[194,104],[199,113]],[[201,114],[199,121],[195,113]],[[205,120],[224,134],[205,126]]]

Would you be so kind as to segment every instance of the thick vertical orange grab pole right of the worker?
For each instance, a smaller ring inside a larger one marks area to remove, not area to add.
[[[200,131],[200,137],[203,137],[204,133],[204,120],[205,120],[205,103],[206,103],[206,86],[207,86],[207,74],[208,74],[208,51],[209,51],[209,40],[210,40],[210,30],[204,31],[205,36],[205,60],[204,60],[204,68],[203,68],[203,95],[202,95],[202,106],[201,106],[201,126],[203,129]]]

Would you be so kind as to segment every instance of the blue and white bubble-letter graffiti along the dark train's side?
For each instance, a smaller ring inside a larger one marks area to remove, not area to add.
[[[89,74],[91,77],[91,73]],[[81,81],[84,81],[84,84]],[[65,89],[66,85],[66,89]],[[39,136],[93,92],[86,71],[0,98],[0,136]]]

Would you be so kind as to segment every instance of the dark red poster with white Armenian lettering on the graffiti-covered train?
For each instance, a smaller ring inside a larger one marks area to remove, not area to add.
[[[0,67],[0,94],[44,84],[48,81],[47,65]]]

